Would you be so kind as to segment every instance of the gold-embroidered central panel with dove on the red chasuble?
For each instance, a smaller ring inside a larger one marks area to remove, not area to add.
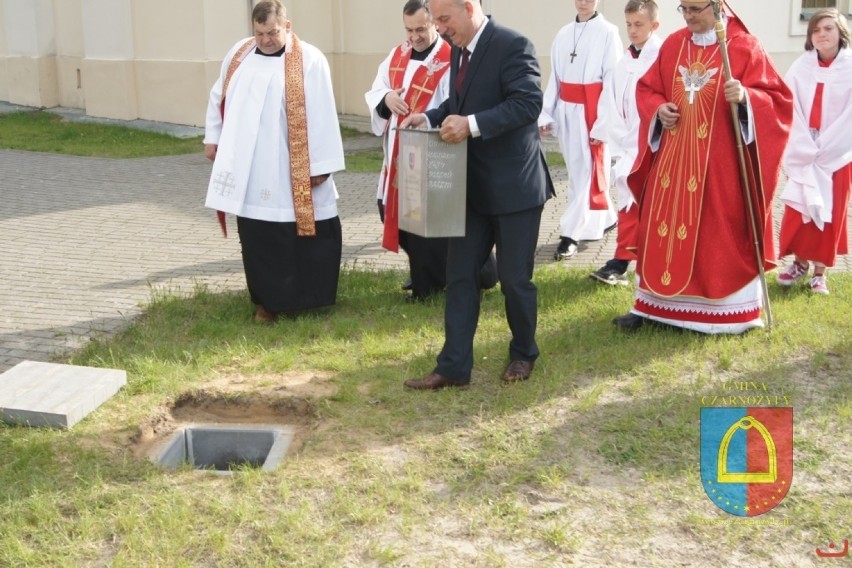
[[[642,284],[658,296],[683,292],[692,279],[710,155],[710,132],[722,85],[718,44],[696,48],[686,39],[671,92],[677,127],[664,130],[647,208]]]

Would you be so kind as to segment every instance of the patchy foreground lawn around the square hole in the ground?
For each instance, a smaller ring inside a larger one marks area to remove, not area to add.
[[[499,384],[508,334],[490,291],[472,388],[438,393],[401,387],[432,368],[443,313],[402,302],[400,277],[347,272],[334,308],[274,326],[251,321],[245,294],[155,293],[70,359],[126,369],[119,395],[70,432],[0,426],[0,565],[597,565],[606,550],[664,566],[700,549],[706,565],[770,566],[848,536],[849,275],[824,298],[772,287],[771,332],[705,337],[620,333],[609,320],[629,290],[545,267],[533,379]],[[313,421],[276,472],[219,478],[134,455],[140,425],[187,396],[292,408],[279,385],[294,371],[335,392],[295,396]],[[701,397],[738,380],[795,408],[796,476],[769,527],[718,511],[697,478]]]

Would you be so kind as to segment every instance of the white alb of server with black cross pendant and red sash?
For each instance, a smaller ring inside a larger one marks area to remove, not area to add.
[[[559,98],[559,83],[604,84],[624,51],[618,28],[598,14],[586,22],[572,22],[559,30],[550,49],[552,72],[544,92],[539,125],[553,124],[568,168],[568,203],[559,220],[560,234],[575,241],[597,240],[616,221],[615,207],[606,191],[607,209],[592,211],[590,195],[592,156],[584,105]],[[571,54],[575,53],[574,61]],[[598,102],[598,116],[605,106]],[[591,125],[594,129],[594,125]],[[593,130],[594,132],[594,130]],[[607,189],[610,153],[604,152]]]

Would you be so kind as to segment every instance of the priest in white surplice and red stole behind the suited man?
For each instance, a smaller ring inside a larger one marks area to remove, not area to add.
[[[399,121],[433,109],[450,94],[450,44],[435,28],[426,0],[408,0],[402,9],[407,41],[379,65],[372,88],[364,95],[373,134],[383,136],[384,163],[379,176],[379,214],[384,222],[382,246],[408,254],[412,298],[425,299],[447,285],[447,239],[427,239],[399,230],[397,158]]]

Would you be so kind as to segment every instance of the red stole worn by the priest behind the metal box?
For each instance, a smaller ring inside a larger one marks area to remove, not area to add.
[[[391,58],[389,79],[391,89],[402,88],[405,70],[411,60],[411,46],[402,44],[396,48]],[[409,114],[421,113],[426,110],[429,101],[441,78],[449,68],[450,44],[442,42],[441,47],[426,65],[422,65],[411,78],[411,84],[405,92],[405,102],[408,104]],[[405,115],[408,116],[408,115]],[[402,122],[405,116],[397,117],[397,124]],[[390,121],[388,121],[390,124]],[[399,252],[399,191],[397,188],[397,157],[399,156],[399,136],[394,136],[393,148],[388,159],[389,171],[384,172],[387,180],[387,199],[385,202],[385,228],[382,235],[382,246],[387,250]]]

